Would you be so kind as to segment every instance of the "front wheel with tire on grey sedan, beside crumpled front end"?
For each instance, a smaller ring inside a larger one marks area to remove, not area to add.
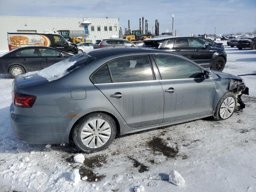
[[[225,102],[224,102],[225,101]],[[229,102],[229,107],[223,108],[225,106],[225,103]],[[223,104],[223,105],[222,105]],[[220,98],[220,101],[218,102],[215,113],[213,115],[214,120],[219,121],[219,120],[225,120],[230,118],[236,108],[236,96],[233,92],[226,92],[222,98]],[[224,113],[223,113],[224,112]],[[225,114],[228,114],[228,116],[225,116]]]

